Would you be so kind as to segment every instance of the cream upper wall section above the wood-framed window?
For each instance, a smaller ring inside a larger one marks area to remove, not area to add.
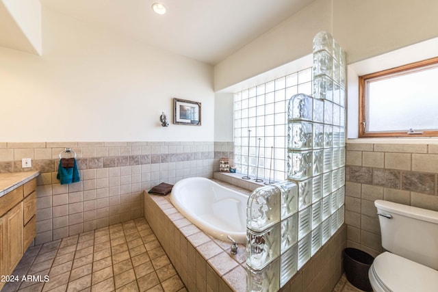
[[[333,0],[333,36],[351,64],[438,36],[436,0]]]

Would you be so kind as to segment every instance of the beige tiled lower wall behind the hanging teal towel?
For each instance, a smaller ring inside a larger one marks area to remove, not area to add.
[[[66,147],[77,153],[81,181],[60,185]],[[220,157],[233,159],[232,142],[0,142],[0,172],[40,171],[36,244],[142,217],[145,189],[211,178]],[[21,168],[22,158],[32,167]]]

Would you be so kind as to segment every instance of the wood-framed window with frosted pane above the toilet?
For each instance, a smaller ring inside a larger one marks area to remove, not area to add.
[[[359,77],[359,137],[438,136],[438,57]]]

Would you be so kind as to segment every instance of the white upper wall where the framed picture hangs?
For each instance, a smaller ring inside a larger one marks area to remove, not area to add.
[[[1,142],[214,141],[211,66],[47,8],[42,20],[42,57],[0,48]],[[173,97],[202,103],[201,127],[172,124]]]

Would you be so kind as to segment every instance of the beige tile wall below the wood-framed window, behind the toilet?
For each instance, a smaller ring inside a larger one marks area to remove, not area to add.
[[[438,144],[347,142],[348,247],[383,252],[374,200],[438,211]]]

